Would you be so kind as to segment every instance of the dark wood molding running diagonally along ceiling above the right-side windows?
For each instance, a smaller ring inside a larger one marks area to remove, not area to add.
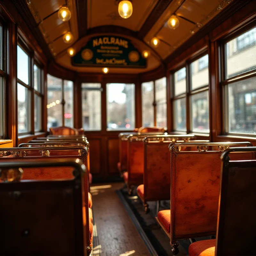
[[[213,29],[220,26],[225,20],[230,18],[234,13],[243,8],[246,4],[250,2],[255,2],[255,0],[234,0],[229,4],[223,11],[216,15],[211,21],[209,21],[204,27],[198,30],[195,35],[190,37],[188,41],[182,44],[178,49],[172,52],[167,58],[164,59],[164,63],[169,63],[173,59],[179,57],[184,51],[191,47],[191,45],[196,44],[202,38],[207,36]]]

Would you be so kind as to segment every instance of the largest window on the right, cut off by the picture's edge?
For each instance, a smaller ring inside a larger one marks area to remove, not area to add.
[[[225,132],[256,134],[256,28],[225,42]],[[232,78],[232,79],[230,79]]]

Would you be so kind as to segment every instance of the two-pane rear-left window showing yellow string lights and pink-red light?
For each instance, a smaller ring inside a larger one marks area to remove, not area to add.
[[[73,127],[73,87],[72,81],[47,74],[47,130],[62,125]]]

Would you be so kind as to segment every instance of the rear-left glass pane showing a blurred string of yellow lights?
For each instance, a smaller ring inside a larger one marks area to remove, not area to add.
[[[55,126],[62,126],[62,105],[61,102],[62,80],[47,75],[47,129]]]

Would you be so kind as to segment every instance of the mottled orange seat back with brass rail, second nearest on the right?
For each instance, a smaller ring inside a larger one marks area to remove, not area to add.
[[[182,151],[183,147],[195,146],[198,151]],[[239,146],[252,146],[252,144],[250,142],[170,144],[171,244],[178,239],[216,234],[220,156],[225,148]],[[214,147],[219,150],[216,151]],[[253,157],[252,154],[250,155]]]

